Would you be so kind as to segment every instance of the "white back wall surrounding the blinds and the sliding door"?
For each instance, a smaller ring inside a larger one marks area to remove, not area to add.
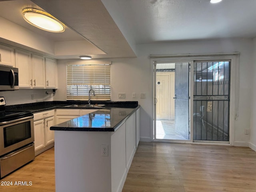
[[[197,42],[175,42],[137,45],[137,58],[113,58],[112,100],[136,100],[141,105],[141,140],[150,141],[153,119],[153,72],[150,67],[151,54],[199,54],[240,52],[240,94],[239,117],[235,121],[235,145],[248,146],[250,135],[244,128],[250,128],[252,89],[252,39],[223,39]],[[110,60],[110,59],[108,59]],[[54,100],[66,100],[66,63],[79,60],[58,60],[58,90]],[[81,62],[81,61],[80,61]],[[236,77],[237,78],[237,77]],[[132,93],[136,98],[132,98]],[[126,93],[125,99],[118,99],[118,93]],[[141,99],[140,93],[146,93]],[[246,93],[246,94],[245,94]],[[237,97],[237,96],[236,96]]]

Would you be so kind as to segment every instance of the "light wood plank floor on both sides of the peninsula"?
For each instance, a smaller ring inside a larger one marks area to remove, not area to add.
[[[0,192],[54,192],[54,148],[0,180]],[[140,142],[122,192],[256,192],[256,152],[246,147]]]

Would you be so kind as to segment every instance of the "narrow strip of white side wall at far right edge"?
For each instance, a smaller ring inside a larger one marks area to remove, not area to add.
[[[253,39],[253,66],[251,68],[252,70],[252,95],[255,96],[256,95],[256,38]],[[251,127],[250,127],[250,143],[249,146],[250,148],[252,148],[253,150],[256,151],[256,100],[254,98],[252,98],[252,102],[251,102],[251,106],[252,106],[252,112],[251,112]]]

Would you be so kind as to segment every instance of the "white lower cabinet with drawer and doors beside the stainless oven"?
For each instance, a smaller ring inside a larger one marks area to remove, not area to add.
[[[34,113],[34,137],[36,155],[54,145],[54,110]]]

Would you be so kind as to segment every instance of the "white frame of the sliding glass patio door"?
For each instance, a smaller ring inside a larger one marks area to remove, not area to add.
[[[193,128],[193,77],[194,77],[194,61],[200,60],[223,60],[228,59],[231,60],[230,64],[230,139],[229,144],[226,145],[234,145],[234,129],[235,129],[235,120],[238,118],[239,115],[239,52],[233,53],[216,53],[216,54],[179,54],[179,55],[150,55],[150,71],[152,72],[152,86],[153,86],[153,111],[152,111],[152,119],[151,119],[151,128],[150,128],[150,139],[152,141],[161,141],[161,142],[182,142],[182,143],[193,143],[193,132],[191,131]],[[190,70],[190,140],[156,140],[154,138],[154,132],[156,128],[156,113],[155,113],[155,98],[156,98],[156,89],[155,89],[155,79],[156,79],[156,72],[154,64],[157,62],[191,62],[191,70]],[[205,143],[205,142],[204,142]],[[215,144],[216,142],[208,142],[210,144]],[[219,144],[219,143],[217,143]],[[224,144],[223,144],[224,145]]]

